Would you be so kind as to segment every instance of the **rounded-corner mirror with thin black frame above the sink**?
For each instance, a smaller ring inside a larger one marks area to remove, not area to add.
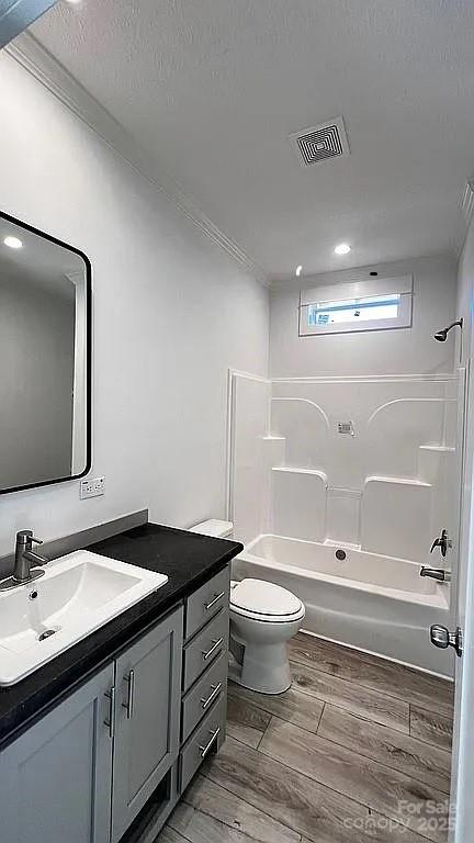
[[[0,214],[0,493],[90,468],[91,270]]]

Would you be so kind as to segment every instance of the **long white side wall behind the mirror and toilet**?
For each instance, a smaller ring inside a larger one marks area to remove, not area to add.
[[[189,526],[225,515],[227,368],[268,363],[268,293],[13,59],[0,55],[1,207],[93,267],[93,474],[0,497],[15,530],[52,539],[149,506]]]

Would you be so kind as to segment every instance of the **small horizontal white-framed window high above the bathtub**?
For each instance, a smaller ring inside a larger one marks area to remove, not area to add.
[[[358,292],[364,292],[364,282],[343,284],[347,288],[356,288]],[[382,286],[386,286],[386,280],[382,280]],[[368,292],[374,292],[377,282],[368,282]],[[403,286],[406,286],[405,284]],[[362,288],[362,289],[361,289]],[[373,295],[354,295],[326,301],[328,288],[302,293],[300,306],[300,334],[302,336],[313,334],[341,334],[358,330],[387,330],[390,328],[409,327],[411,325],[411,292],[390,292]],[[317,297],[317,293],[323,293]],[[331,290],[332,294],[335,289]],[[313,297],[313,302],[307,302]],[[316,301],[315,301],[316,299]]]

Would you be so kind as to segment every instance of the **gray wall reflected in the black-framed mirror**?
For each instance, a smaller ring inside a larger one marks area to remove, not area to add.
[[[70,474],[74,297],[0,267],[0,488]]]

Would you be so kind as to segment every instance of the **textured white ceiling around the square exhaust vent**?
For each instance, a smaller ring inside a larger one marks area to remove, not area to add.
[[[472,0],[83,0],[31,31],[270,278],[462,233]],[[287,135],[338,115],[350,157],[301,167]]]

